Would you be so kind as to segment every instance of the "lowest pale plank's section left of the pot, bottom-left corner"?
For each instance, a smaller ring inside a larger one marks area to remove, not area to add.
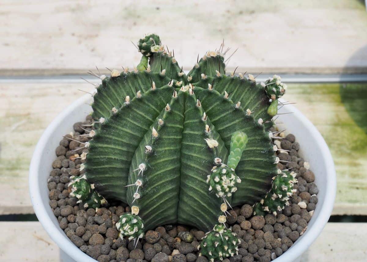
[[[0,261],[59,261],[59,248],[40,222],[0,222],[0,229]]]

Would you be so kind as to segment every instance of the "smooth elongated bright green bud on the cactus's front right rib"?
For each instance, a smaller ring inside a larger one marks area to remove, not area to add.
[[[243,132],[235,132],[232,134],[230,140],[230,152],[228,156],[227,165],[230,168],[236,169],[241,160],[242,152],[245,150],[248,139]]]

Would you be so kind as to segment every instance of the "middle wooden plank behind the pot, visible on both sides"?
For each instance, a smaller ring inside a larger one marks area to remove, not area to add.
[[[284,99],[297,103],[333,155],[338,186],[333,214],[367,215],[367,84],[288,86]],[[0,214],[33,213],[28,167],[34,147],[52,119],[83,95],[77,89],[93,91],[84,82],[0,84],[0,199],[7,199],[0,202]]]

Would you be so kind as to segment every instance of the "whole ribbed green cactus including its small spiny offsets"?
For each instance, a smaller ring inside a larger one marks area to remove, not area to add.
[[[130,205],[116,224],[121,237],[187,224],[212,230],[201,243],[211,260],[236,254],[227,210],[245,203],[262,215],[282,209],[296,182],[277,170],[267,130],[286,85],[277,75],[259,84],[250,74],[226,75],[223,45],[188,74],[159,36],[137,47],[143,57],[134,70],[98,75],[96,130],[84,144],[83,177],[73,180],[72,192],[85,207],[105,199]]]

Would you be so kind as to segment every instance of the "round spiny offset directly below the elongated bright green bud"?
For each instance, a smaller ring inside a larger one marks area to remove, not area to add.
[[[230,197],[237,191],[237,183],[241,179],[236,175],[235,170],[227,165],[214,166],[212,172],[207,176],[209,191],[214,191],[218,198]]]

